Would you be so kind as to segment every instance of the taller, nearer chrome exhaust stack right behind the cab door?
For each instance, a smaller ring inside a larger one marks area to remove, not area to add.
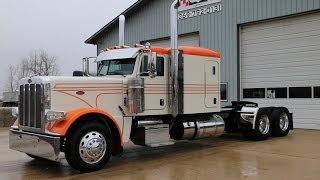
[[[178,0],[174,0],[170,8],[170,23],[171,23],[171,114],[174,118],[178,115]]]

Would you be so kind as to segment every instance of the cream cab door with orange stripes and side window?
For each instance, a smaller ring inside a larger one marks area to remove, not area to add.
[[[157,76],[155,78],[149,77],[149,74],[141,74],[144,79],[145,92],[145,110],[150,113],[153,110],[156,114],[165,113],[168,107],[168,62],[166,57],[157,56]],[[141,59],[140,73],[148,71],[148,56],[145,55]],[[164,110],[159,111],[159,110]]]

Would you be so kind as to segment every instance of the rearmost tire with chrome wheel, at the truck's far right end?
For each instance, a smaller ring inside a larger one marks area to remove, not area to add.
[[[273,120],[273,127],[272,127],[272,135],[275,137],[283,137],[287,136],[290,127],[290,113],[287,108],[280,107],[275,108],[272,112],[272,120]]]

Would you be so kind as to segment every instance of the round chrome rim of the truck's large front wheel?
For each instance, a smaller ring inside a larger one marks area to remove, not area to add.
[[[88,164],[99,162],[106,153],[107,143],[104,136],[92,131],[83,136],[79,144],[81,159]]]

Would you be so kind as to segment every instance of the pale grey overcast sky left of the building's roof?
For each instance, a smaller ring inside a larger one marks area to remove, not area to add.
[[[58,57],[62,75],[81,69],[81,59],[96,56],[84,41],[136,0],[1,0],[0,93],[8,66],[31,50]]]

